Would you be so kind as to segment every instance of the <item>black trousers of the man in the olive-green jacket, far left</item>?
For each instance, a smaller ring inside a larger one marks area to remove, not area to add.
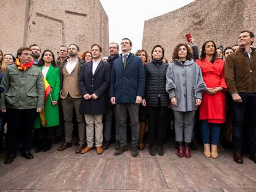
[[[6,148],[8,154],[16,154],[16,139],[20,138],[21,151],[29,151],[32,136],[36,109],[6,109],[7,132]]]

